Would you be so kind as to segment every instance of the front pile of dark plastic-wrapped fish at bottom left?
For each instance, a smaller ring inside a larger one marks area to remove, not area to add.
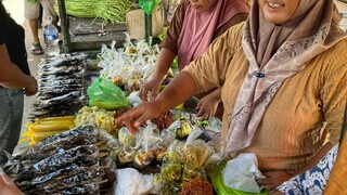
[[[4,171],[25,194],[99,194],[116,180],[107,145],[119,146],[93,125],[78,127],[11,157]]]

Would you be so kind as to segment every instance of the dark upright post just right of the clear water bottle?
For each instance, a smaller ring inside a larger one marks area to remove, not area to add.
[[[65,9],[65,0],[57,0],[59,16],[61,20],[61,28],[63,34],[63,49],[65,53],[72,52],[72,41],[69,37],[69,23]]]

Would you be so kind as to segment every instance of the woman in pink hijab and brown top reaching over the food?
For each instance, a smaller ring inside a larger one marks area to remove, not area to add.
[[[160,43],[155,69],[140,89],[143,101],[155,98],[176,55],[179,70],[201,56],[207,47],[231,26],[245,21],[249,6],[245,0],[183,0],[177,8],[167,35]],[[220,104],[220,90],[211,89],[197,107],[197,116],[207,119]],[[202,96],[202,95],[201,95]],[[222,113],[222,110],[220,112]]]

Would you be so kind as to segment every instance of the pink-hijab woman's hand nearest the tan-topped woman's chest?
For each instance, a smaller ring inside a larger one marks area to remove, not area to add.
[[[215,116],[220,102],[220,90],[216,90],[208,95],[204,96],[196,106],[198,113],[196,114],[202,120],[206,120]]]

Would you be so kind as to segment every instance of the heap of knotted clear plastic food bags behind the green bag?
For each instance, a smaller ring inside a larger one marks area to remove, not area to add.
[[[115,48],[115,42],[108,49],[102,46],[100,63],[101,77],[112,80],[127,94],[138,91],[140,86],[151,76],[159,47],[151,47],[145,40],[132,43],[127,37],[124,48]]]

